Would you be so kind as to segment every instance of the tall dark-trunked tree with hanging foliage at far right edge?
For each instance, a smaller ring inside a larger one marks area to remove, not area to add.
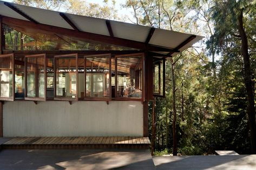
[[[251,8],[254,8],[251,10]],[[214,11],[213,19],[215,22],[215,34],[212,36],[213,43],[222,47],[225,39],[230,36],[239,37],[241,40],[240,54],[244,62],[244,83],[247,92],[247,115],[248,125],[251,134],[252,153],[256,153],[256,123],[255,123],[255,105],[254,105],[254,90],[252,83],[251,59],[248,52],[248,39],[246,35],[244,22],[245,18],[250,17],[249,12],[255,11],[255,2],[253,1],[235,1],[229,0],[226,2],[215,1],[212,10]],[[255,15],[255,13],[254,13]],[[223,48],[220,50],[224,50]]]

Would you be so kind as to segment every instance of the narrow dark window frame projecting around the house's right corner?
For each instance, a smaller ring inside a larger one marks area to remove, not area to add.
[[[158,69],[158,79],[159,79],[159,83],[158,83],[158,88],[159,88],[159,93],[155,93],[154,92],[154,81],[153,81],[153,96],[155,97],[162,97],[165,98],[165,58],[157,58],[157,60],[155,61],[153,58],[153,80],[154,80],[154,66],[158,65],[159,69]],[[161,94],[161,62],[163,64],[163,94]]]

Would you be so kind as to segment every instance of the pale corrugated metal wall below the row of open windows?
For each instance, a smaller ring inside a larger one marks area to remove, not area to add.
[[[4,137],[142,136],[140,101],[6,101]]]

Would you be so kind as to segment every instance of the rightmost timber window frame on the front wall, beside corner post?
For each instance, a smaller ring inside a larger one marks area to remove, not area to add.
[[[120,57],[142,57],[142,96],[141,98],[130,98],[130,97],[117,97],[117,58]],[[115,100],[126,100],[126,101],[144,101],[145,98],[145,53],[131,53],[127,55],[116,55],[115,56]]]

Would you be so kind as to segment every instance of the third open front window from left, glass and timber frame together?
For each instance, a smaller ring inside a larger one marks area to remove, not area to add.
[[[78,100],[77,54],[54,56],[55,58],[55,99]]]

